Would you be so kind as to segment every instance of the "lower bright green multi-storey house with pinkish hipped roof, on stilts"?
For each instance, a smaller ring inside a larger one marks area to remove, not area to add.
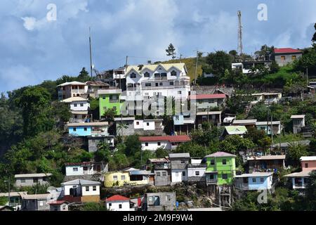
[[[236,155],[217,152],[206,155],[206,185],[231,185],[236,175]]]

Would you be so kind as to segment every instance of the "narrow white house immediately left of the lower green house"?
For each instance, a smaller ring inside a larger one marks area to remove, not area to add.
[[[187,165],[187,181],[196,183],[206,181],[206,162],[203,160],[191,158],[191,162]]]

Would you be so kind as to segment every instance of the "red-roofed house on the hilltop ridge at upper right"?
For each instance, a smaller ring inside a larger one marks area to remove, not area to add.
[[[288,63],[293,63],[294,60],[301,58],[303,55],[303,51],[298,49],[291,49],[291,48],[282,48],[277,49],[275,48],[275,62],[279,66],[287,65]]]

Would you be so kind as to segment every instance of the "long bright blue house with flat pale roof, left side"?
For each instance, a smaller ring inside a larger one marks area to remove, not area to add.
[[[107,122],[79,122],[67,124],[68,132],[72,136],[108,136]]]

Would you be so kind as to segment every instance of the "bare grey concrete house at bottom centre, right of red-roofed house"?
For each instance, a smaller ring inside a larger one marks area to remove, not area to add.
[[[176,210],[176,192],[145,193],[142,203],[144,211]]]

